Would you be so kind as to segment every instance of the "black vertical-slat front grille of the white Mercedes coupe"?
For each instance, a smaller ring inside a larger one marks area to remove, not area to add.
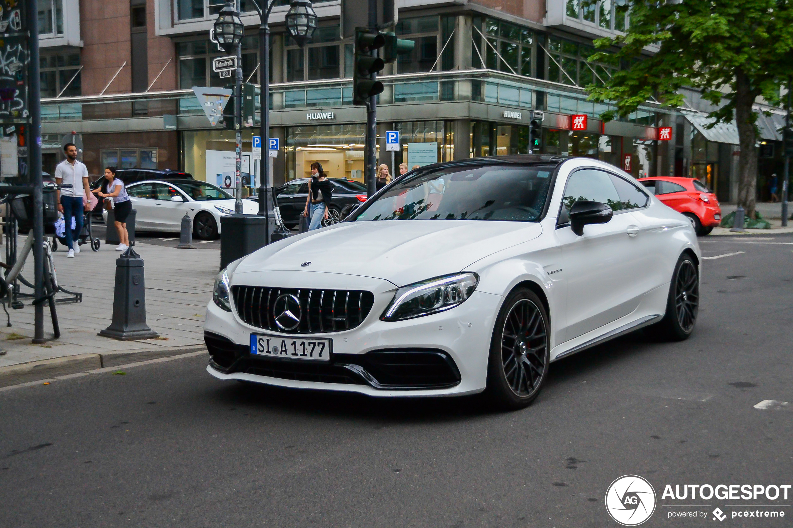
[[[276,324],[278,314],[274,313],[276,299],[286,294],[294,295],[301,307],[299,324],[289,330]],[[237,315],[248,325],[289,334],[354,329],[374,305],[374,294],[370,291],[232,286],[232,295]]]

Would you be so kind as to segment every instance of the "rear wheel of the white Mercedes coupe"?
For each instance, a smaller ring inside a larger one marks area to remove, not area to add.
[[[664,318],[647,331],[657,340],[687,340],[694,331],[699,312],[699,268],[694,258],[683,253],[675,264]]]

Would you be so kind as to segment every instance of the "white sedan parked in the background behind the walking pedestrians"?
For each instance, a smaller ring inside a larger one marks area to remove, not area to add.
[[[193,219],[193,236],[212,239],[220,234],[220,217],[234,212],[234,196],[197,180],[144,180],[127,186],[135,209],[136,231],[182,230],[182,217]],[[243,199],[243,213],[255,215],[259,206]],[[107,211],[102,211],[107,222]]]

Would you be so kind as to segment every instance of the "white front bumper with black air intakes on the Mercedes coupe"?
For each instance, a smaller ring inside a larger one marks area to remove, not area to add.
[[[247,325],[236,313],[210,302],[204,327],[210,351],[207,371],[219,379],[380,397],[462,395],[485,389],[500,296],[474,292],[446,312],[408,321],[380,321],[383,303],[391,296],[376,295],[374,308],[357,328],[300,334],[304,339],[332,339],[330,364],[251,355],[251,333],[273,332]]]

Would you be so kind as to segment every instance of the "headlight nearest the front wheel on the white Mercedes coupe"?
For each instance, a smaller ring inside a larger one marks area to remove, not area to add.
[[[469,298],[477,283],[476,273],[455,273],[400,287],[380,318],[401,321],[449,310]]]

